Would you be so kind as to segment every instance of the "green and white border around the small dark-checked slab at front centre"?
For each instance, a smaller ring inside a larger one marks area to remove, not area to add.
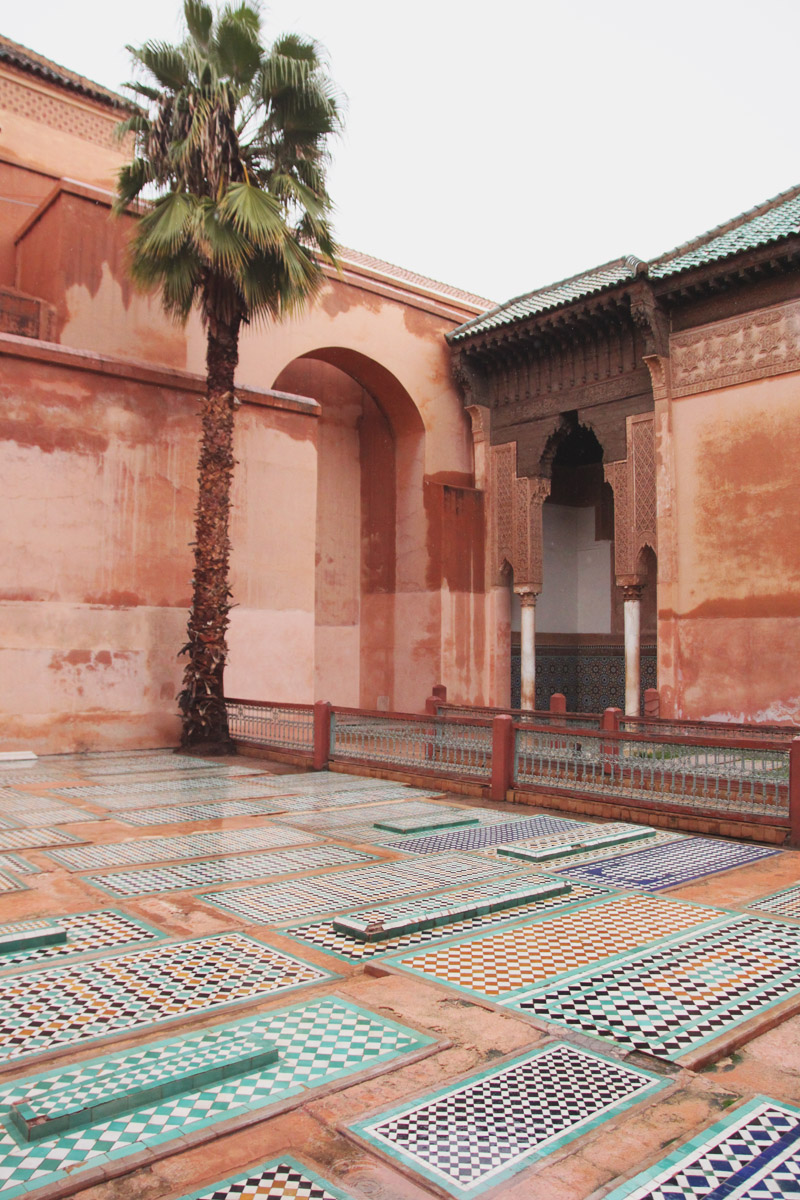
[[[606,1110],[606,1112],[601,1112],[597,1116],[591,1117],[590,1120],[584,1118],[583,1121],[578,1122],[575,1129],[565,1130],[553,1141],[548,1142],[546,1147],[542,1147],[541,1150],[531,1150],[529,1154],[518,1157],[513,1163],[509,1164],[509,1166],[504,1168],[501,1171],[498,1171],[488,1181],[479,1182],[470,1188],[461,1188],[457,1184],[452,1183],[451,1181],[445,1182],[443,1176],[438,1175],[433,1170],[426,1170],[426,1168],[421,1163],[419,1163],[411,1156],[407,1154],[404,1151],[389,1148],[386,1142],[381,1141],[380,1139],[375,1138],[373,1134],[367,1132],[367,1127],[374,1124],[377,1121],[387,1121],[391,1120],[392,1117],[399,1116],[401,1114],[409,1111],[410,1109],[415,1109],[419,1105],[433,1104],[435,1103],[435,1100],[440,1099],[444,1096],[450,1096],[453,1092],[458,1092],[464,1087],[471,1087],[481,1079],[487,1079],[492,1075],[498,1075],[501,1072],[519,1066],[523,1062],[528,1062],[533,1058],[539,1058],[542,1054],[555,1050],[559,1046],[566,1046],[570,1050],[575,1050],[579,1054],[585,1054],[593,1058],[599,1058],[600,1061],[613,1064],[614,1067],[633,1072],[634,1074],[642,1076],[643,1086],[636,1094],[628,1097],[625,1100],[621,1100],[618,1104],[612,1105],[609,1109]],[[494,1062],[491,1067],[485,1067],[483,1070],[475,1072],[475,1074],[473,1075],[462,1076],[461,1079],[455,1080],[445,1085],[444,1087],[439,1087],[433,1092],[423,1093],[422,1096],[417,1096],[414,1099],[405,1100],[402,1104],[396,1104],[390,1109],[379,1109],[375,1112],[373,1112],[372,1116],[357,1121],[354,1124],[347,1126],[347,1129],[348,1132],[355,1134],[362,1141],[367,1142],[371,1148],[377,1150],[381,1156],[387,1158],[390,1162],[395,1159],[402,1163],[404,1166],[410,1169],[415,1175],[429,1180],[432,1183],[435,1183],[439,1188],[443,1188],[450,1195],[457,1196],[458,1200],[473,1200],[474,1196],[480,1195],[482,1192],[489,1190],[489,1188],[495,1188],[498,1184],[511,1178],[511,1176],[518,1175],[519,1171],[527,1170],[534,1163],[540,1162],[548,1154],[554,1153],[557,1150],[560,1150],[563,1146],[567,1145],[570,1141],[573,1141],[576,1138],[579,1138],[583,1134],[589,1133],[591,1129],[597,1128],[604,1121],[613,1120],[621,1112],[625,1112],[627,1109],[632,1108],[634,1104],[638,1104],[644,1099],[650,1099],[652,1096],[655,1096],[656,1092],[662,1091],[673,1082],[674,1080],[672,1078],[664,1078],[663,1075],[658,1075],[655,1072],[645,1070],[642,1067],[633,1067],[630,1063],[622,1062],[619,1058],[614,1058],[608,1054],[601,1054],[597,1052],[596,1050],[588,1050],[584,1046],[575,1045],[570,1042],[560,1039],[558,1042],[549,1042],[547,1045],[543,1046],[536,1046],[536,1049],[533,1051],[529,1050],[524,1054],[516,1054],[511,1058],[507,1058],[505,1062],[501,1063]]]

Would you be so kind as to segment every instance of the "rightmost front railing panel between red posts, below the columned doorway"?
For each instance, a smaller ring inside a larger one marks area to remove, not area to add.
[[[518,787],[579,791],[649,806],[718,810],[784,821],[789,752],[758,742],[573,732],[516,725]]]

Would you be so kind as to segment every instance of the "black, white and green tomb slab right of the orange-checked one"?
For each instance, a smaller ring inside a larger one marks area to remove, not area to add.
[[[759,917],[576,972],[504,1003],[661,1058],[693,1054],[800,994],[800,929]]]

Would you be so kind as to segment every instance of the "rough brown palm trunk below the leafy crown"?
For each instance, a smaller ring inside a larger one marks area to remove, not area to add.
[[[188,662],[178,701],[181,745],[206,752],[233,749],[228,732],[223,671],[230,612],[228,568],[230,485],[234,470],[234,373],[239,360],[239,320],[209,322],[206,395],[194,512],[194,580],[188,618]]]

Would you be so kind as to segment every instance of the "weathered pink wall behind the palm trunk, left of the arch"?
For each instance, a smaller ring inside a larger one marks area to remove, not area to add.
[[[4,748],[174,743],[199,380],[8,336],[0,362]],[[296,487],[303,474],[314,478],[315,415],[276,408],[269,396],[253,401],[239,410],[237,451],[248,467],[235,497],[242,610],[231,664],[246,655],[253,670],[247,628],[270,648],[265,686],[288,679],[309,697],[311,678],[299,678],[296,664],[313,640],[313,500],[303,511]],[[251,518],[253,504],[264,509],[264,470],[278,522],[271,512]],[[283,575],[266,570],[275,563]],[[295,677],[275,662],[276,648]]]

